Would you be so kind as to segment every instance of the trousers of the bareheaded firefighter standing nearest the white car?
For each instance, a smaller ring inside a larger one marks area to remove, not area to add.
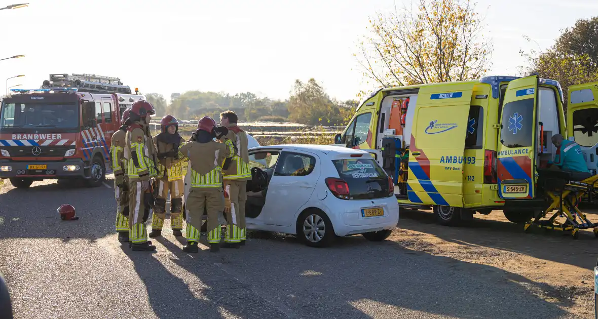
[[[230,209],[227,209],[228,225],[225,241],[239,243],[246,239],[245,203],[247,202],[247,182],[245,180],[224,180],[224,188],[230,198]]]

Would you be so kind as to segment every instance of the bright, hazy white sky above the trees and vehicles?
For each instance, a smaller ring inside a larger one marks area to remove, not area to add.
[[[0,7],[14,2],[1,0]],[[396,0],[399,7],[410,0]],[[492,3],[492,5],[490,5]],[[362,79],[353,53],[368,16],[393,0],[30,0],[1,10],[0,87],[39,88],[50,73],[116,76],[142,93],[251,91],[285,99],[295,79],[316,78],[353,99]],[[493,39],[492,74],[514,75],[529,35],[544,49],[559,30],[598,15],[596,0],[478,1]],[[535,46],[535,44],[533,44]]]

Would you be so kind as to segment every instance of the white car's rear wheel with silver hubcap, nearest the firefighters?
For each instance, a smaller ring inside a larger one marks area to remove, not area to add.
[[[336,235],[332,222],[321,210],[306,210],[297,219],[297,237],[310,247],[327,247]]]

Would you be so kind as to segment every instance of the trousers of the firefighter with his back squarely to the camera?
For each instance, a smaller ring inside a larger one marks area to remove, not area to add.
[[[220,243],[221,225],[218,214],[224,210],[224,191],[219,188],[194,188],[189,191],[187,205],[187,241],[199,241],[203,210],[208,212],[208,243]]]

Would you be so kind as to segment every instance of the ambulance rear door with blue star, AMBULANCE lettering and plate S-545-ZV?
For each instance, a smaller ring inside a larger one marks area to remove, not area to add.
[[[507,85],[498,137],[498,194],[504,199],[535,196],[538,76]]]

